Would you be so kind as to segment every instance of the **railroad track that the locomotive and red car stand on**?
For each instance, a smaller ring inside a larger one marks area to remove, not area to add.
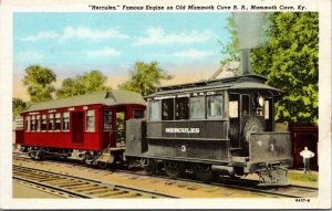
[[[28,159],[31,160],[27,156],[19,156],[18,159]],[[32,161],[32,160],[31,160]],[[74,165],[80,166],[79,162],[70,162],[68,160],[53,160],[56,162],[60,162],[62,165]],[[98,171],[102,171],[102,169],[95,169]],[[151,178],[162,178],[162,179],[170,179],[167,176],[164,175],[156,175],[156,176],[146,176],[144,171],[142,170],[126,170],[126,169],[112,169],[113,172],[122,172],[122,173],[128,173],[133,176],[139,176],[139,177],[151,177]],[[185,181],[185,182],[191,182],[191,183],[204,183],[199,180],[196,180],[195,178],[188,176],[186,178],[177,178],[173,179],[176,181]],[[231,188],[237,190],[246,190],[249,192],[255,192],[259,196],[269,197],[269,198],[312,198],[318,197],[318,188],[310,188],[310,187],[301,187],[301,186],[286,186],[286,187],[259,187],[257,180],[249,180],[249,179],[231,179],[227,177],[220,177],[216,181],[209,183],[211,187],[225,187],[225,188]]]

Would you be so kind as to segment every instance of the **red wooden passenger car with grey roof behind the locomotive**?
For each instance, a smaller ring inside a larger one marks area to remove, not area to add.
[[[122,114],[123,123],[142,118],[145,108],[143,97],[128,91],[110,91],[34,104],[21,114],[24,124],[23,130],[17,131],[17,144],[35,159],[72,156],[96,163],[111,151],[124,150],[121,140],[125,138],[122,133],[125,128],[120,128],[116,117]],[[107,162],[112,162],[114,155]]]

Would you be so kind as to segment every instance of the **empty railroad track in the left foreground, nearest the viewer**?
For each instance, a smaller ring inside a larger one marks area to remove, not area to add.
[[[60,192],[66,198],[175,198],[173,196],[139,190],[114,183],[106,183],[81,177],[68,176],[58,172],[33,169],[13,165],[13,179],[37,187]]]

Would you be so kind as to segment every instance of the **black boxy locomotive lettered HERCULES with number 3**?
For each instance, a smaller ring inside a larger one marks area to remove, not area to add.
[[[126,158],[151,175],[187,170],[209,181],[258,173],[261,184],[286,184],[290,135],[272,131],[280,91],[264,82],[242,75],[159,87],[146,97],[147,119],[126,123]]]

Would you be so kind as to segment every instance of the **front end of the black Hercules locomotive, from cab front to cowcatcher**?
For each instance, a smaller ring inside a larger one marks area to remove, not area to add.
[[[263,82],[247,75],[228,91],[230,159],[235,166],[245,163],[235,168],[238,175],[257,172],[263,184],[286,184],[286,168],[292,166],[290,135],[273,131],[280,91]]]

